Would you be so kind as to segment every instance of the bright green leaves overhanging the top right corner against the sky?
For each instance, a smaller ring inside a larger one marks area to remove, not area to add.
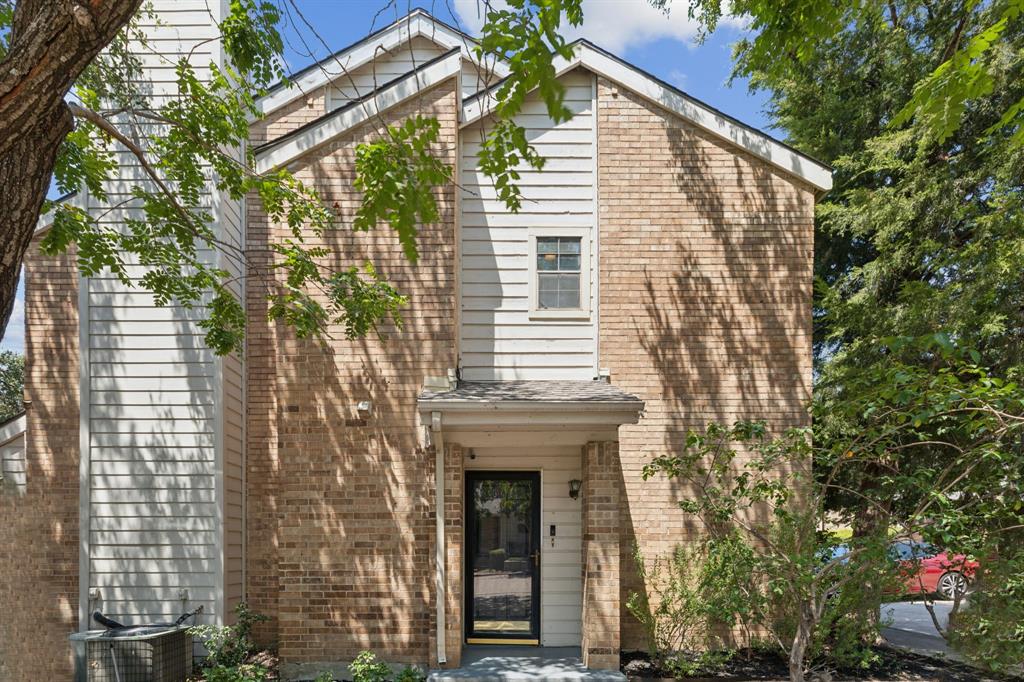
[[[934,57],[927,73],[904,76],[913,96],[903,102],[888,123],[899,126],[911,119],[921,124],[929,141],[942,142],[961,125],[963,115],[999,82],[999,63],[1008,37],[1019,26],[1022,0],[961,0],[946,2],[857,2],[841,0],[689,0],[689,14],[706,31],[714,30],[724,13],[745,17],[750,37],[736,46],[736,71],[744,76],[781,82],[794,70],[814,65],[822,46],[837,37],[869,25],[888,24],[903,33],[910,50],[929,50]],[[953,23],[939,41],[916,43],[914,26],[942,20],[952,11]],[[827,49],[827,47],[826,47]],[[907,77],[909,76],[909,78]],[[882,85],[877,83],[877,85]],[[888,85],[888,84],[886,84]],[[1009,135],[1016,146],[1024,143],[1024,97],[1018,95],[999,112],[986,133]]]

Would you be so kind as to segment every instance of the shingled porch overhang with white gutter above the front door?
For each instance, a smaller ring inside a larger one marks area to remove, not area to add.
[[[418,407],[424,423],[439,417],[450,433],[606,433],[623,424],[636,424],[644,402],[603,381],[480,381],[425,388]]]

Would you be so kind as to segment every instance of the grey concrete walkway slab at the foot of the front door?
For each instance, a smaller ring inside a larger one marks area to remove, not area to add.
[[[580,647],[469,646],[462,668],[431,671],[429,682],[466,680],[551,680],[552,682],[625,682],[617,670],[587,670]]]

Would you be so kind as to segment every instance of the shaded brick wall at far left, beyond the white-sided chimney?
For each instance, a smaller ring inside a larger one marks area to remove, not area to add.
[[[0,489],[0,680],[68,680],[78,630],[78,270],[25,262],[27,489]]]

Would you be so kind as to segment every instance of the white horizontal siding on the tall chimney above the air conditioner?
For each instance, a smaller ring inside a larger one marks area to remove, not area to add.
[[[177,94],[174,70],[180,58],[188,56],[200,78],[208,77],[207,65],[220,62],[216,20],[225,1],[157,0],[154,9],[156,20],[142,14],[148,42],[136,51],[142,89],[160,105]],[[159,134],[159,127],[146,126],[145,132]],[[118,150],[116,158],[120,177],[109,183],[106,203],[90,198],[89,205],[114,228],[138,217],[139,208],[131,202],[111,206],[148,181],[129,153]],[[202,203],[215,218],[218,239],[241,246],[238,204],[217,190],[204,194]],[[219,252],[203,251],[200,257],[237,272]],[[126,262],[127,275],[137,285],[146,268],[137,257]],[[83,587],[101,597],[89,604],[83,595],[83,610],[91,605],[137,623],[174,619],[202,604],[202,621],[219,622],[224,615],[217,437],[222,373],[197,324],[206,311],[157,306],[152,294],[109,272],[89,278],[83,289],[88,518],[82,528],[87,547],[82,579]],[[233,384],[241,385],[237,377]]]

